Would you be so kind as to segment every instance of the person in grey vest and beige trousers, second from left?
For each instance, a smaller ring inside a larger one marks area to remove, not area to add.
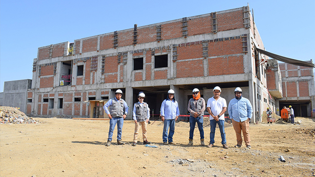
[[[135,123],[133,143],[132,146],[136,146],[138,142],[139,129],[142,127],[143,144],[151,144],[147,141],[147,122],[150,118],[150,109],[146,102],[143,102],[146,98],[145,93],[140,92],[138,95],[138,102],[133,105],[132,118]]]

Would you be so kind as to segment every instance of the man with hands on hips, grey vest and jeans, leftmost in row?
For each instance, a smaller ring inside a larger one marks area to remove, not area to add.
[[[122,141],[122,130],[124,125],[124,119],[128,114],[129,107],[124,99],[122,99],[123,91],[118,89],[115,92],[115,98],[109,99],[104,105],[104,110],[109,117],[109,132],[106,146],[110,146],[113,132],[117,123],[117,143],[118,145],[124,145]],[[108,111],[108,106],[110,111]]]

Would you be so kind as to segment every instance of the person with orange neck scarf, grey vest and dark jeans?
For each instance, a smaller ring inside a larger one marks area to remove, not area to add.
[[[204,98],[201,98],[199,89],[195,88],[192,90],[192,98],[188,101],[187,109],[190,113],[189,116],[189,143],[193,144],[193,132],[195,130],[195,125],[197,122],[199,133],[200,133],[200,145],[205,145],[205,133],[204,133],[204,111],[206,110],[206,102]]]

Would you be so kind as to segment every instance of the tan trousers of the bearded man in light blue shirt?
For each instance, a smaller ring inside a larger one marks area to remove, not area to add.
[[[245,145],[251,145],[251,139],[250,139],[250,122],[249,120],[245,120],[243,122],[237,122],[234,119],[232,119],[233,127],[236,133],[236,140],[237,140],[237,145],[242,145],[242,132],[243,132],[243,137],[244,137],[244,142]]]

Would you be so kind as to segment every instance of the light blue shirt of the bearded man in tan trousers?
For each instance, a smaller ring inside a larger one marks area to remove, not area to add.
[[[230,118],[237,122],[243,122],[247,118],[252,118],[252,104],[250,100],[242,97],[241,99],[231,99],[228,107]]]

